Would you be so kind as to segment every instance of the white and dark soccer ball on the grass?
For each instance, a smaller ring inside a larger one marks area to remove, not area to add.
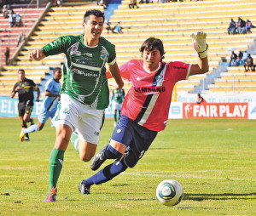
[[[175,206],[183,199],[183,186],[173,179],[160,182],[156,189],[156,197],[166,206]]]

